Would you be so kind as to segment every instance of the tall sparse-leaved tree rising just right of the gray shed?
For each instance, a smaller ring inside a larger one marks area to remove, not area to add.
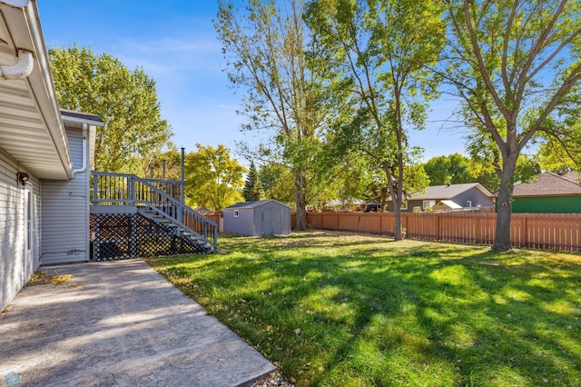
[[[245,6],[242,6],[242,5]],[[326,64],[303,22],[303,0],[220,0],[216,30],[229,61],[231,83],[244,87],[248,129],[270,129],[261,144],[268,162],[288,165],[294,177],[296,230],[306,229],[310,168],[325,127]]]

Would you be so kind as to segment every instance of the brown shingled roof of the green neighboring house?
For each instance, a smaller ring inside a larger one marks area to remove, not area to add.
[[[534,181],[515,184],[513,197],[581,195],[581,186],[565,176],[552,172],[539,174]]]

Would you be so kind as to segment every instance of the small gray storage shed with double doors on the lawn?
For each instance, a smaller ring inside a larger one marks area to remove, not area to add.
[[[224,232],[288,235],[291,233],[291,207],[276,200],[233,204],[224,208]]]

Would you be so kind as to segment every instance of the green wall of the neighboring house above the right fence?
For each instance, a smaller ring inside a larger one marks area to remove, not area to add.
[[[516,197],[513,213],[581,213],[581,196]]]

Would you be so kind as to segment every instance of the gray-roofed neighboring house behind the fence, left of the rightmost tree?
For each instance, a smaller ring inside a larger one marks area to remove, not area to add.
[[[419,212],[439,209],[459,209],[469,207],[494,207],[494,195],[478,183],[433,185],[426,193],[408,197],[402,205],[402,212]],[[393,201],[388,199],[388,208],[393,212]]]

